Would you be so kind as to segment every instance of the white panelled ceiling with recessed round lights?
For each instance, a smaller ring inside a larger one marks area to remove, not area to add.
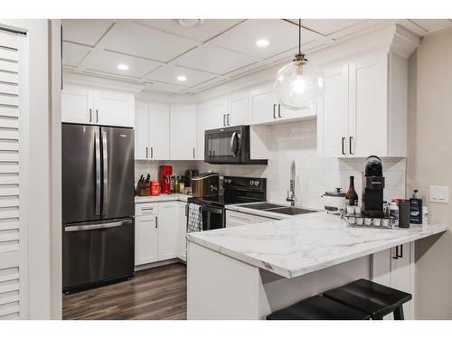
[[[303,20],[302,49],[314,51],[382,20]],[[397,20],[424,36],[448,19]],[[288,61],[297,19],[63,20],[65,70],[145,84],[161,93],[196,93]]]

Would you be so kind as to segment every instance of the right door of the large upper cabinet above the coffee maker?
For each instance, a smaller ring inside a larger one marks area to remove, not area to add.
[[[387,54],[351,61],[350,74],[349,151],[358,157],[384,156],[388,139]]]

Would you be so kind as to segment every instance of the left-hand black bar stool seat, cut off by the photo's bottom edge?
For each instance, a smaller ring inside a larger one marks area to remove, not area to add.
[[[326,297],[309,297],[267,316],[267,320],[368,320],[369,314]]]

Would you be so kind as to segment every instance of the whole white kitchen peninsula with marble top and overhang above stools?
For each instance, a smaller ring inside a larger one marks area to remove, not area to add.
[[[405,314],[414,318],[414,242],[445,231],[446,225],[348,228],[339,216],[315,212],[190,233],[188,319],[264,319],[358,278],[410,290]]]

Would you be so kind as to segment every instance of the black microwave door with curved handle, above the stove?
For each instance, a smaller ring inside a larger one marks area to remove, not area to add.
[[[205,131],[204,161],[211,164],[243,163],[244,128],[228,127]]]

